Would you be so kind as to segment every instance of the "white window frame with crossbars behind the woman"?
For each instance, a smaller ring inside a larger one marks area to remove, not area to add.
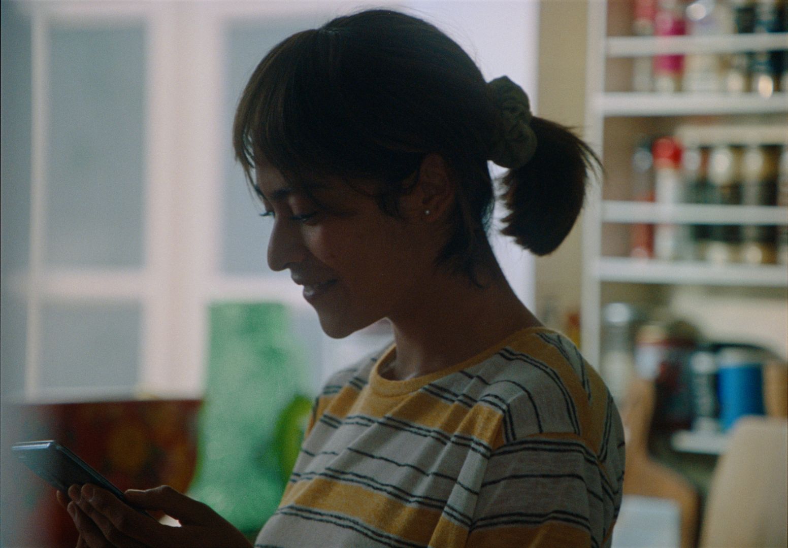
[[[417,14],[425,16],[430,9],[437,9],[435,6],[440,8],[440,2],[384,3],[415,8]],[[536,2],[525,4],[531,17],[523,21],[522,29],[532,36],[533,54],[521,72],[510,72],[509,76],[535,92],[538,6]],[[41,309],[43,302],[51,300],[114,299],[135,299],[142,309],[136,395],[199,397],[203,393],[211,302],[273,300],[307,306],[298,288],[288,280],[221,272],[225,161],[221,151],[226,145],[220,142],[225,135],[221,131],[221,64],[225,29],[233,20],[299,14],[318,13],[327,20],[358,9],[359,3],[58,0],[21,5],[28,9],[32,20],[32,205],[28,271],[17,276],[12,289],[24,294],[28,309],[24,399],[67,401],[108,395],[102,389],[54,391],[40,387]],[[141,20],[147,29],[143,267],[46,270],[47,40],[56,25],[101,26],[129,20]],[[473,24],[467,21],[467,27]],[[469,37],[474,43],[492,43],[496,36],[487,32],[486,37],[483,33]],[[535,104],[535,97],[532,102]],[[493,244],[500,251],[504,272],[515,292],[533,308],[533,257],[511,254],[511,243],[502,238],[494,239]]]

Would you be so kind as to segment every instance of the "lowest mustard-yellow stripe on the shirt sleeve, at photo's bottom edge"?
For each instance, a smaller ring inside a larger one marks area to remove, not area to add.
[[[575,548],[590,546],[588,531],[556,521],[537,527],[505,526],[473,531],[466,548]]]

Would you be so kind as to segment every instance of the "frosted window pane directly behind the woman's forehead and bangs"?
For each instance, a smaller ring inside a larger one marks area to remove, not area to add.
[[[243,176],[243,169],[232,154],[232,118],[238,99],[252,71],[273,46],[296,31],[314,28],[325,22],[325,17],[299,20],[268,21],[229,26],[224,66],[225,106],[225,189],[223,192],[224,220],[222,223],[221,268],[229,274],[263,274],[289,277],[288,272],[272,272],[266,263],[266,249],[273,224],[258,217],[258,205]]]

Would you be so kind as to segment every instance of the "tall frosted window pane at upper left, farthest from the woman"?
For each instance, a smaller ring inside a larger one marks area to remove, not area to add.
[[[46,143],[49,265],[143,262],[145,31],[54,28]]]

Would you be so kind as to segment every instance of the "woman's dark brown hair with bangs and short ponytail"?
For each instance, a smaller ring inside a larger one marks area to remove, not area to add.
[[[494,205],[487,158],[499,117],[481,72],[432,24],[388,9],[337,17],[301,31],[266,55],[236,111],[233,146],[252,187],[266,161],[289,183],[341,176],[376,180],[385,213],[427,154],[439,154],[457,183],[447,243],[437,262],[465,272],[489,251]],[[555,250],[585,199],[589,146],[548,120],[533,117],[537,150],[504,176],[509,215],[504,235],[538,255]],[[308,192],[308,190],[307,190]]]

